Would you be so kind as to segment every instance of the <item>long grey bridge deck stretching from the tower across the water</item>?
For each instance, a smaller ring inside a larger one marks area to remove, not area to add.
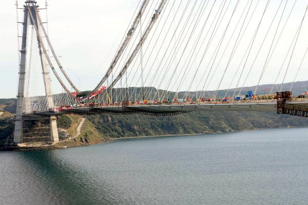
[[[308,110],[308,99],[293,99],[287,101],[286,106],[298,106],[302,109]],[[149,111],[156,112],[168,112],[168,111],[195,111],[195,110],[207,110],[207,111],[276,111],[276,100],[251,100],[251,101],[229,101],[229,102],[200,102],[200,103],[171,103],[171,104],[146,104],[146,105],[128,105],[126,106],[130,110],[136,111]],[[24,114],[24,116],[51,116],[62,115],[65,113],[79,113],[79,114],[91,114],[95,111],[99,112],[114,112],[121,113],[123,110],[122,105],[107,105],[107,106],[93,106],[93,107],[71,107],[56,113],[51,113],[49,110],[40,111],[35,114]]]

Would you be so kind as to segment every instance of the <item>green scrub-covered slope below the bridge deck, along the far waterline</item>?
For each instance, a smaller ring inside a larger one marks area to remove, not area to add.
[[[306,118],[244,111],[195,111],[172,117],[96,115],[87,118],[100,133],[111,138],[308,126]]]

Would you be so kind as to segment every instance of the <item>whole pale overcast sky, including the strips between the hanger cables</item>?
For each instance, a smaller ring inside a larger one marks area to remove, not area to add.
[[[150,8],[155,8],[157,0],[153,0],[155,3]],[[287,1],[287,2],[286,2]],[[77,3],[76,3],[77,2]],[[70,79],[75,83],[76,86],[80,87],[81,90],[89,90],[94,88],[97,83],[101,80],[104,73],[106,72],[115,51],[117,50],[123,35],[126,33],[126,28],[129,25],[130,19],[138,6],[139,0],[117,0],[117,1],[99,1],[93,0],[87,3],[79,1],[60,1],[60,0],[49,0],[48,1],[48,31],[49,38],[51,43],[57,53],[60,55],[60,61],[65,68]],[[116,3],[115,3],[116,2]],[[151,2],[151,1],[150,1]],[[176,0],[176,4],[180,5],[180,0]],[[184,1],[185,2],[185,1]],[[197,1],[201,4],[201,0]],[[210,1],[208,8],[206,11],[209,11],[211,3],[214,1]],[[217,4],[214,7],[214,10],[218,10],[218,5],[220,5],[221,0],[217,1]],[[229,2],[229,1],[228,1]],[[246,1],[239,1],[238,10],[244,11],[244,7],[246,5]],[[252,19],[252,22],[248,26],[248,33],[253,34],[253,31],[258,25],[259,18],[262,14],[262,9],[267,1],[260,0],[260,4],[256,7],[256,17]],[[282,18],[282,22],[286,20],[287,12],[291,10],[292,5],[295,0],[282,0],[282,6],[279,7],[279,12],[282,11],[283,5],[287,3],[285,14]],[[40,8],[45,7],[44,1],[37,1]],[[227,25],[228,16],[232,15],[232,9],[235,6],[236,1],[230,1],[230,9],[226,14],[225,20],[222,22],[222,25]],[[255,47],[252,49],[252,54],[257,53],[257,48],[262,44],[262,36],[266,34],[266,30],[271,23],[271,19],[275,14],[280,0],[271,0],[271,3],[268,6],[267,13],[264,16],[264,22],[260,27],[259,35],[256,38]],[[19,7],[22,7],[23,1],[18,1]],[[257,0],[253,0],[252,6],[257,4]],[[166,10],[171,9],[171,4],[166,5]],[[14,98],[16,96],[17,89],[17,73],[18,73],[18,51],[17,51],[17,29],[16,29],[16,9],[15,9],[15,1],[4,1],[2,2],[3,9],[0,12],[0,25],[2,25],[2,29],[0,30],[0,73],[1,73],[1,81],[0,81],[0,98]],[[290,21],[288,22],[285,32],[282,35],[282,39],[277,46],[277,51],[275,51],[273,55],[273,60],[269,65],[271,69],[268,69],[264,77],[262,78],[261,84],[265,83],[274,83],[274,79],[279,70],[281,59],[283,59],[285,52],[290,46],[292,38],[298,28],[300,20],[303,16],[304,10],[307,6],[307,2],[305,0],[297,0],[295,4],[294,11],[290,17]],[[183,8],[181,7],[183,10]],[[152,12],[152,11],[151,11]],[[151,16],[151,12],[149,16]],[[173,12],[175,12],[173,10]],[[232,29],[235,28],[236,18],[240,17],[241,12],[237,12],[234,17],[234,21],[231,22],[229,26],[229,32],[226,34],[224,43],[222,47],[227,47],[227,52],[221,54],[222,63],[218,64],[218,71],[216,74],[222,74],[224,71],[224,63],[227,62],[228,55],[230,51],[232,51],[232,43],[236,40],[236,36],[231,38]],[[19,10],[18,21],[22,21],[22,10]],[[181,12],[177,16],[177,20],[179,20]],[[43,21],[46,21],[45,11],[41,10],[41,16],[43,17]],[[279,15],[279,13],[278,13]],[[162,14],[162,18],[166,16],[166,13]],[[214,15],[213,15],[214,16]],[[201,22],[205,21],[206,15],[201,18]],[[274,26],[278,24],[278,17],[274,22]],[[300,60],[302,58],[303,51],[308,46],[308,41],[306,41],[306,34],[308,33],[307,26],[308,25],[308,16],[305,18],[303,23],[302,33],[299,38],[298,47],[294,53],[295,57],[291,62],[291,67],[294,69],[291,72],[293,74],[296,72]],[[143,30],[145,29],[146,24],[144,24]],[[160,28],[160,27],[158,27]],[[210,30],[209,27],[206,27]],[[222,28],[224,28],[222,26]],[[164,32],[166,32],[166,28],[162,28]],[[198,27],[201,29],[201,26]],[[197,30],[198,30],[197,29]],[[250,30],[249,30],[250,29]],[[21,30],[21,26],[20,26]],[[158,29],[159,30],[159,29]],[[237,28],[239,30],[239,27]],[[281,30],[281,27],[280,27]],[[279,31],[279,30],[278,30]],[[137,31],[136,31],[137,32]],[[213,46],[209,47],[208,53],[211,51],[214,52],[214,48],[219,43],[219,38],[223,34],[223,30],[218,30],[217,38],[214,39]],[[153,34],[155,35],[155,34]],[[178,37],[180,36],[178,32]],[[196,34],[197,35],[197,34]],[[197,36],[194,36],[196,41]],[[205,32],[204,32],[205,35]],[[252,73],[248,75],[247,83],[244,85],[255,85],[258,83],[260,71],[262,70],[262,66],[264,64],[264,59],[266,58],[267,48],[271,45],[271,36],[275,35],[275,30],[272,29],[268,36],[269,38],[265,41],[266,47],[261,49],[260,57],[257,59],[254,67],[252,67]],[[169,39],[171,35],[169,35]],[[150,38],[151,36],[149,36]],[[229,39],[230,41],[227,41]],[[252,35],[244,36],[242,44],[239,45],[239,51],[245,51],[249,41],[251,40]],[[161,40],[158,42],[158,44]],[[184,41],[183,41],[184,42]],[[231,44],[227,45],[228,42]],[[193,41],[192,41],[193,43]],[[217,44],[216,44],[217,43]],[[190,44],[189,44],[190,45]],[[133,47],[133,45],[131,45]],[[151,45],[153,48],[156,45]],[[164,45],[165,46],[165,45]],[[192,44],[190,45],[192,46]],[[150,46],[149,46],[150,47]],[[156,48],[157,49],[157,48]],[[179,49],[181,52],[181,49]],[[180,55],[180,52],[178,55]],[[240,53],[240,52],[239,52]],[[146,55],[146,54],[145,54]],[[184,54],[184,57],[188,54]],[[201,54],[200,54],[201,56]],[[197,56],[197,58],[200,58]],[[151,57],[153,58],[153,57]],[[240,54],[235,55],[235,59],[242,58]],[[209,63],[210,55],[206,56],[203,61],[201,67],[205,67],[207,63]],[[248,60],[248,64],[252,64],[253,58]],[[232,79],[233,72],[236,70],[238,62],[231,62],[230,69],[226,71],[226,81],[222,81],[222,86],[220,88],[227,88],[229,85],[229,81]],[[197,64],[197,63],[196,63]],[[196,69],[195,64],[195,69]],[[249,64],[249,65],[250,65]],[[249,65],[247,65],[249,67]],[[301,71],[299,73],[299,77],[296,80],[308,80],[305,78],[308,74],[308,70],[306,69],[308,65],[308,61],[305,60],[303,62]],[[172,64],[172,66],[176,66]],[[169,73],[170,74],[170,73]],[[177,74],[177,73],[176,73]],[[138,73],[137,73],[138,75]],[[209,75],[210,76],[210,75]],[[215,78],[215,74],[213,74]],[[188,73],[187,78],[193,77],[192,72]],[[199,74],[197,78],[200,78]],[[218,76],[219,77],[219,76]],[[216,81],[219,82],[219,78],[216,77]],[[290,76],[286,81],[292,81],[294,76]],[[197,80],[196,80],[197,81]],[[177,81],[174,81],[177,82]],[[188,83],[189,84],[189,83]],[[187,85],[185,85],[187,86]],[[212,87],[208,87],[208,89],[216,89],[217,84]],[[234,87],[234,86],[233,86]],[[201,89],[202,86],[197,86],[196,89]],[[183,87],[184,89],[184,87]],[[184,89],[185,90],[185,89]]]

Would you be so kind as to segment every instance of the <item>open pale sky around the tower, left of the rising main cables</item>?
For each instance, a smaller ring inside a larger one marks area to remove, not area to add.
[[[20,7],[23,2],[18,1]],[[82,86],[81,78],[84,85],[94,87],[100,79],[93,83],[90,77],[106,71],[104,66],[110,63],[139,0],[76,2],[48,1],[50,40],[76,86]],[[37,3],[45,7],[45,0]],[[2,6],[6,9],[0,12],[0,98],[14,98],[18,73],[15,1],[2,1]],[[22,12],[19,14],[21,21]],[[44,12],[41,15],[45,17]]]

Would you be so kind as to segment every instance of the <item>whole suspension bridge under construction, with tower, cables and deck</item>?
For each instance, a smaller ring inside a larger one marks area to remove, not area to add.
[[[307,90],[292,95],[307,65],[307,8],[297,0],[140,0],[101,81],[81,91],[52,47],[41,8],[35,1],[23,8],[16,2],[23,21],[17,15],[22,30],[17,26],[14,142],[30,139],[33,122],[42,119],[50,123],[47,141],[59,141],[57,116],[68,113],[234,110],[307,117]],[[260,91],[264,79],[274,84]],[[285,88],[287,81],[292,83]],[[250,82],[254,90],[244,92]]]

